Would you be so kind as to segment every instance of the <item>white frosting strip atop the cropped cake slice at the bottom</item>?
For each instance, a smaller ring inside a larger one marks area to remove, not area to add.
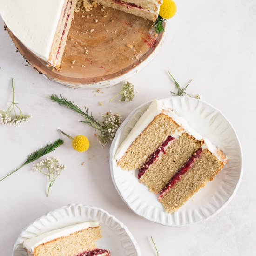
[[[99,226],[98,222],[83,222],[83,223],[75,224],[62,229],[56,229],[56,230],[49,231],[47,233],[25,240],[23,243],[23,247],[29,251],[34,252],[34,249],[42,243],[52,241],[62,236],[69,236],[70,234],[83,229],[95,228],[98,226]]]

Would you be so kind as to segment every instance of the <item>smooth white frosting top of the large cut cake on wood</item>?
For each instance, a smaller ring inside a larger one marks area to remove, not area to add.
[[[65,0],[0,0],[0,15],[12,33],[48,61]]]

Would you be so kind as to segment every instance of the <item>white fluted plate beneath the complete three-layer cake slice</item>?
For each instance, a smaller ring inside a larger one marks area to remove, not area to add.
[[[110,169],[115,188],[124,202],[139,216],[167,226],[191,225],[220,212],[233,198],[241,182],[243,154],[236,132],[225,116],[208,103],[189,97],[173,96],[161,99],[166,107],[184,117],[203,137],[221,148],[229,161],[212,182],[200,189],[177,212],[167,213],[137,178],[138,171],[123,171],[117,167],[115,152],[134,127],[150,102],[136,108],[122,123],[110,148]]]

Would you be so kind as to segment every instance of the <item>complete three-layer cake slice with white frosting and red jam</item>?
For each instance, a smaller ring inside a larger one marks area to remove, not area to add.
[[[139,169],[138,178],[167,212],[181,207],[213,180],[227,156],[203,138],[162,101],[154,100],[118,148],[115,159],[124,170]]]

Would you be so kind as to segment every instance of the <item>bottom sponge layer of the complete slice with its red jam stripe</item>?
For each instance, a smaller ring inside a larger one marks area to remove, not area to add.
[[[165,211],[175,212],[207,182],[212,181],[227,162],[219,149],[199,148],[162,189],[159,201]]]

